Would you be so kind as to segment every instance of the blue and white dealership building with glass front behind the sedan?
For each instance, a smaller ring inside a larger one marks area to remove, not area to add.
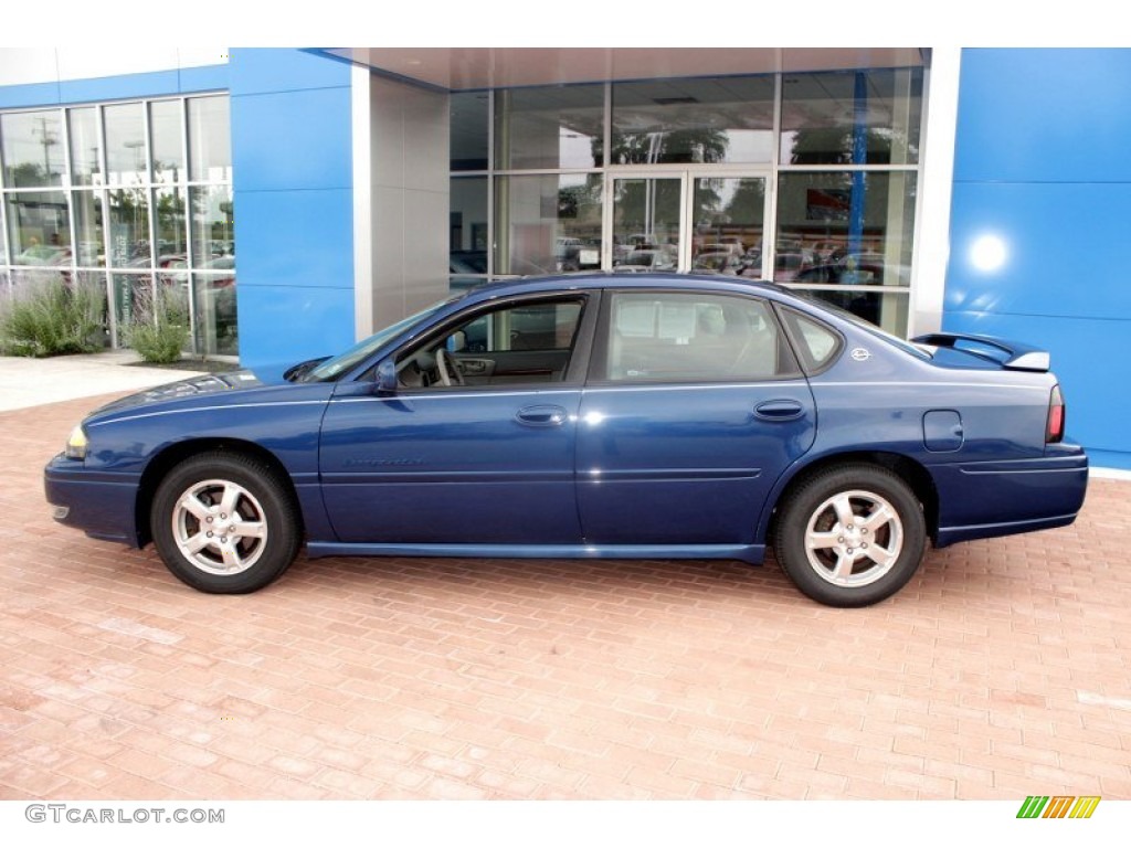
[[[1131,470],[1131,50],[104,53],[0,50],[0,289],[98,286],[107,345],[163,293],[254,367],[492,279],[758,277],[1048,349]]]

